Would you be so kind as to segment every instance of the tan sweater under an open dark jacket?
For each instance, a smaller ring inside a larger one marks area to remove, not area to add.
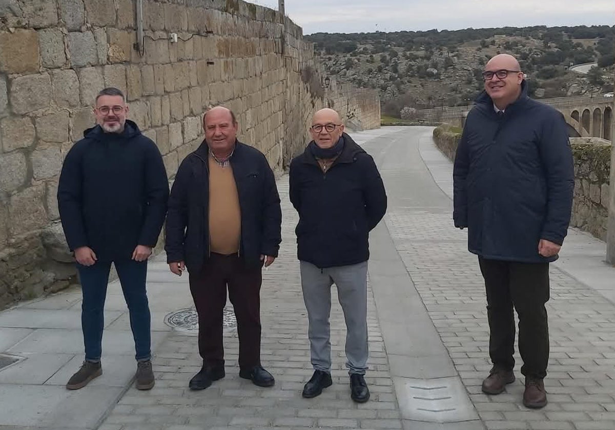
[[[232,167],[220,166],[209,157],[209,242],[216,254],[239,251],[241,209]]]

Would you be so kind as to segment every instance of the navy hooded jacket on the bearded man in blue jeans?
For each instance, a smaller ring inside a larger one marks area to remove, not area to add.
[[[130,259],[138,244],[156,246],[167,213],[169,181],[156,144],[127,120],[124,132],[84,131],[66,154],[58,209],[71,251],[92,248],[99,261]]]

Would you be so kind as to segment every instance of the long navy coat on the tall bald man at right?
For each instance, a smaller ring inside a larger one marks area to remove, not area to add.
[[[560,112],[522,94],[501,117],[483,93],[467,115],[453,171],[456,227],[487,259],[550,262],[538,243],[563,243],[571,216],[573,156]]]

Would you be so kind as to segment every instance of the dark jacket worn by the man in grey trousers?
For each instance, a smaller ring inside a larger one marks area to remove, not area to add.
[[[297,257],[319,268],[370,258],[368,238],[387,208],[371,155],[346,133],[344,148],[323,173],[308,146],[290,163],[290,201],[299,213]]]

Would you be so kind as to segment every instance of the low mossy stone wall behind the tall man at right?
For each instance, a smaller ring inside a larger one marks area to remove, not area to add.
[[[461,130],[443,125],[434,129],[435,145],[454,160]],[[574,155],[574,200],[571,227],[606,240],[609,205],[611,143],[600,138],[571,138]]]

